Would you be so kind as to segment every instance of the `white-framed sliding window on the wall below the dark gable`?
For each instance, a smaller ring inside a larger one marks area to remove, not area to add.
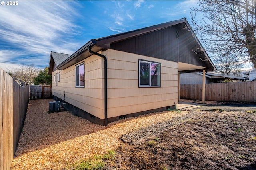
[[[139,87],[160,87],[161,63],[139,60]]]

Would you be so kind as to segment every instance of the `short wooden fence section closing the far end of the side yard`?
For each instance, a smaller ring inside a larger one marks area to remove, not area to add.
[[[30,99],[47,99],[52,98],[51,85],[30,85],[29,86]]]

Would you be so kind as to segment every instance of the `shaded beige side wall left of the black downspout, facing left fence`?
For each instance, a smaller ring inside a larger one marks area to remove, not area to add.
[[[84,88],[76,88],[75,68],[84,62]],[[52,95],[91,115],[104,119],[104,60],[92,55],[64,70],[52,72]],[[60,72],[60,82],[53,76]],[[65,97],[64,97],[65,91]]]

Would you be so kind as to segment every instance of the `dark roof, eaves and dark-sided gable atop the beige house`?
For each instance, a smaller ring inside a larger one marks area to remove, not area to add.
[[[64,70],[89,57],[92,54],[88,51],[88,47],[95,52],[114,49],[178,62],[179,72],[216,70],[186,18],[91,39],[62,63],[56,63],[54,68]],[[198,53],[194,51],[198,51]]]

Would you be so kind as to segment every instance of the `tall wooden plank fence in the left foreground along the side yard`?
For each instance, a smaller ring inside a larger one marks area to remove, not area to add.
[[[11,167],[28,101],[29,87],[21,87],[0,68],[0,170]]]

